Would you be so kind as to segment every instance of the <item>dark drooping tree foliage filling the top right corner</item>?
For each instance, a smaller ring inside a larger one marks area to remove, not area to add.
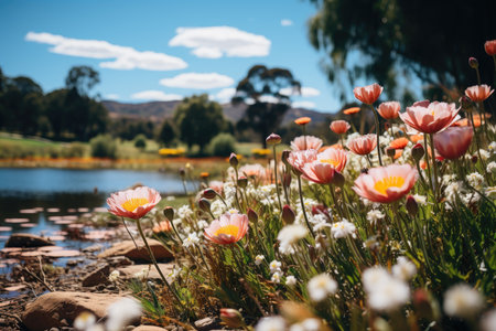
[[[311,2],[319,11],[309,22],[310,41],[326,53],[323,65],[343,98],[358,78],[379,82],[389,98],[408,98],[412,90],[405,77],[412,76],[443,88],[465,88],[475,79],[470,56],[483,68],[482,82],[492,85],[493,60],[483,45],[496,31],[494,1]]]

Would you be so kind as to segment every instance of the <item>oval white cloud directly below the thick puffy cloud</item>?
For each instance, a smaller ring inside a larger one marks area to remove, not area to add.
[[[217,73],[186,73],[172,78],[160,79],[160,84],[169,87],[209,89],[233,85],[234,79]]]

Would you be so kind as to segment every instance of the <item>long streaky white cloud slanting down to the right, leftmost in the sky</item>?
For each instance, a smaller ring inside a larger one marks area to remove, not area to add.
[[[100,67],[114,70],[173,71],[185,68],[187,64],[180,57],[150,51],[137,51],[133,47],[119,46],[101,40],[72,39],[46,32],[29,32],[26,41],[53,45],[51,52],[63,55],[114,58],[101,62]]]

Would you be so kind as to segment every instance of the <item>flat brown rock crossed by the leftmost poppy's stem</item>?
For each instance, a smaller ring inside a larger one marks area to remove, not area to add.
[[[107,250],[98,255],[99,258],[108,258],[112,256],[126,256],[133,261],[151,261],[148,255],[147,247],[144,247],[143,242],[137,242],[139,249],[136,248],[132,241],[126,241],[118,243]],[[157,260],[168,259],[172,257],[172,254],[165,249],[165,247],[155,239],[148,239],[148,244],[155,256]]]

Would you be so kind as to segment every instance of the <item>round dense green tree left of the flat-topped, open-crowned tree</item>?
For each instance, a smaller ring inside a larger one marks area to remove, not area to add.
[[[209,102],[206,94],[184,98],[174,114],[181,140],[191,149],[200,146],[201,152],[212,138],[226,128],[223,108],[218,103]]]

